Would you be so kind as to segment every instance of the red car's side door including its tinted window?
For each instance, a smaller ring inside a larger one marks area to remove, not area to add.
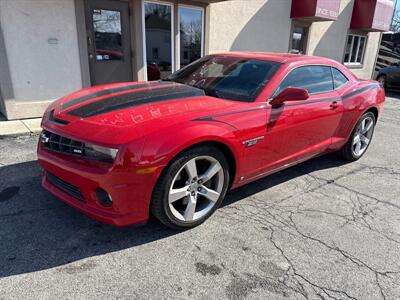
[[[264,134],[256,147],[245,150],[248,178],[306,160],[326,150],[343,113],[329,66],[301,66],[281,82],[274,96],[287,87],[304,88],[310,97],[267,108]]]

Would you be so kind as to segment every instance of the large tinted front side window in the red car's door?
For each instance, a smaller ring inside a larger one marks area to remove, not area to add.
[[[282,81],[276,94],[287,87],[303,88],[310,94],[332,91],[331,68],[325,66],[305,66],[294,69]]]

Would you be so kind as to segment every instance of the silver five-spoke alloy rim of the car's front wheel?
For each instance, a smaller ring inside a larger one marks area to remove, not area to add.
[[[224,181],[218,160],[211,156],[192,158],[172,180],[168,194],[171,213],[184,222],[202,218],[219,200]]]

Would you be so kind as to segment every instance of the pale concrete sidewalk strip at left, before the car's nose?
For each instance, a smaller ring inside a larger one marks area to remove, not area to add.
[[[0,121],[0,138],[38,134],[41,121],[41,118]]]

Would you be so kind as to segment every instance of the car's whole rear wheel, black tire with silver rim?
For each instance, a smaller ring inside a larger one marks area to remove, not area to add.
[[[339,150],[338,154],[348,161],[360,159],[365,152],[367,152],[371,144],[375,124],[376,119],[372,112],[363,114],[354,127],[349,140],[343,148]]]

